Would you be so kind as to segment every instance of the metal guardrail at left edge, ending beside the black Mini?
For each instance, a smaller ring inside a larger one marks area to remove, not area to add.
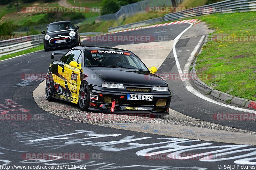
[[[29,35],[0,41],[0,56],[16,53],[43,43],[44,35]]]

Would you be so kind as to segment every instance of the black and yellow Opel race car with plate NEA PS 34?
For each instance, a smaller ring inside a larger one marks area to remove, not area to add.
[[[167,83],[134,53],[105,47],[77,46],[50,64],[45,95],[48,101],[76,103],[81,110],[168,115]]]

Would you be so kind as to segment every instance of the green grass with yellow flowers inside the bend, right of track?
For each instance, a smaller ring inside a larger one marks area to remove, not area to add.
[[[197,73],[208,74],[203,81],[214,89],[256,100],[256,39],[254,42],[212,39],[216,35],[255,35],[256,12],[213,14],[199,19],[215,32],[210,35],[197,58]]]

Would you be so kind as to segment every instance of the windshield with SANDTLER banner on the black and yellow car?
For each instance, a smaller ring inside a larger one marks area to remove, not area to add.
[[[134,54],[114,50],[88,50],[84,62],[88,67],[120,67],[148,71],[144,63]]]

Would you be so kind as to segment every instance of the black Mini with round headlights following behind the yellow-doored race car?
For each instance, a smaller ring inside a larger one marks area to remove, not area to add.
[[[79,26],[74,26],[70,21],[50,23],[44,35],[44,51],[60,47],[80,46],[81,40],[78,32]]]

